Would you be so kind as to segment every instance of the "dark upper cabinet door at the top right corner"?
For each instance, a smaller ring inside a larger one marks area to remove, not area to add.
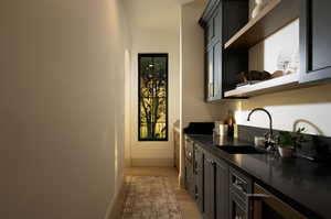
[[[301,2],[300,83],[331,79],[331,1]]]

